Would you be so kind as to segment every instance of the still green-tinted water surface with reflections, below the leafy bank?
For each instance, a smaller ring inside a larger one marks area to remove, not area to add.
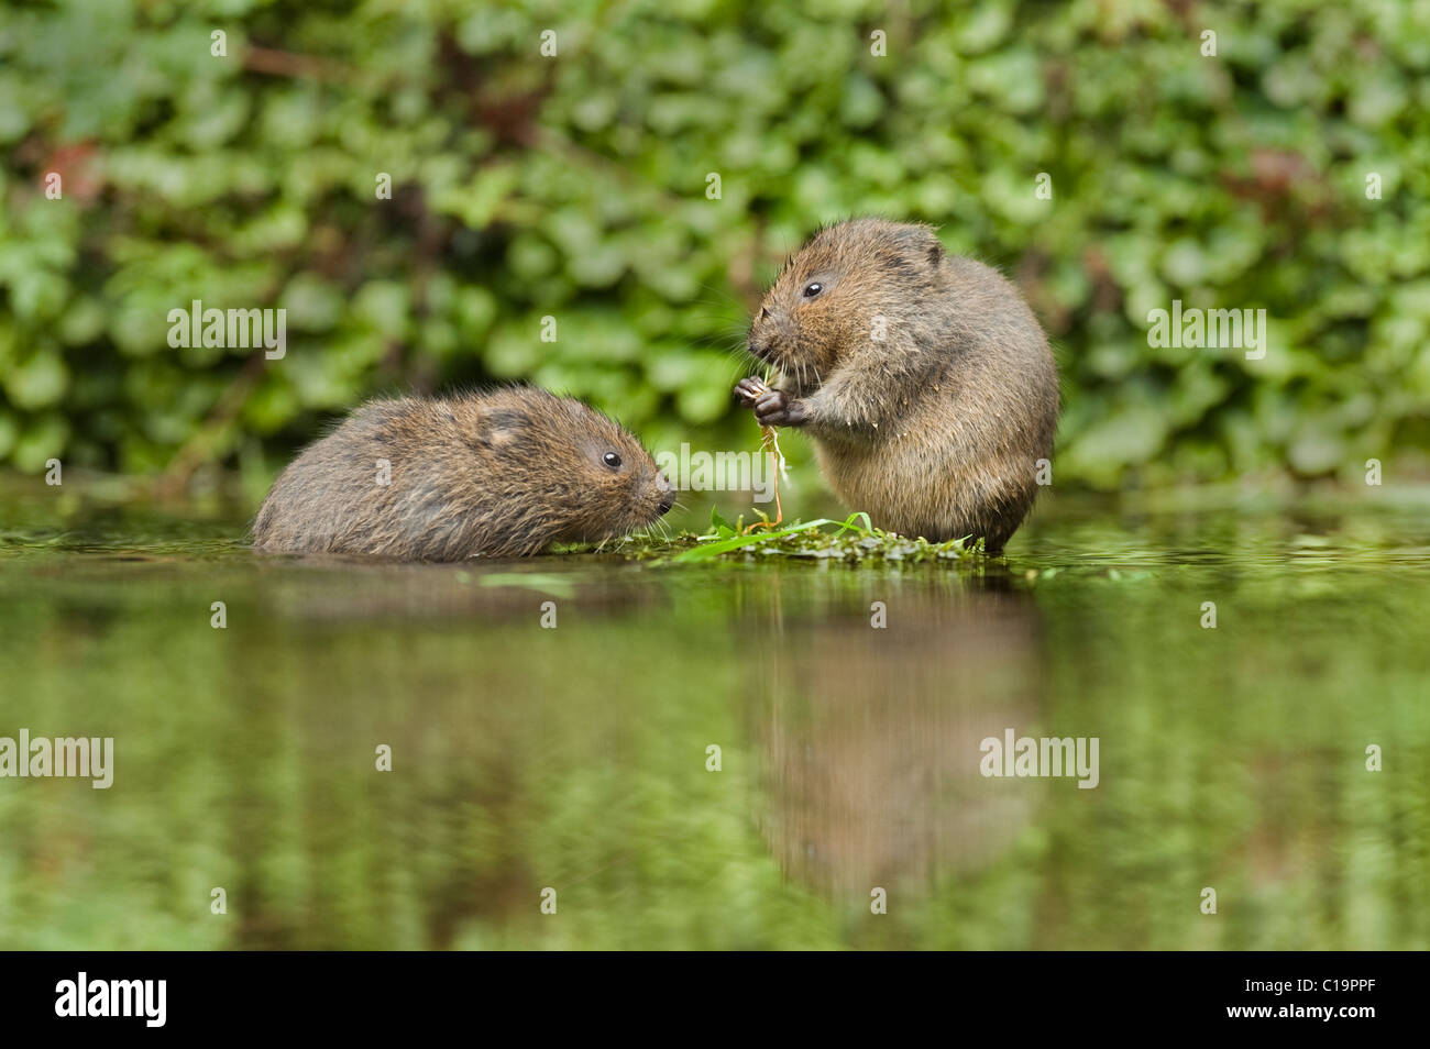
[[[0,779],[0,948],[1426,949],[1427,507],[396,566],[26,492],[0,736],[114,767]],[[1097,786],[981,775],[1010,732]]]

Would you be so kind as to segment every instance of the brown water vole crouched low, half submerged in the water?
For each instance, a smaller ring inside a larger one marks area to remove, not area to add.
[[[386,466],[383,466],[386,463]],[[652,523],[675,493],[615,422],[511,387],[370,400],[273,483],[255,547],[399,560],[516,557]]]

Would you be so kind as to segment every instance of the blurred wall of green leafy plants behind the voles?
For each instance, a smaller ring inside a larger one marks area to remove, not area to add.
[[[513,379],[752,449],[759,289],[882,213],[1027,293],[1058,483],[1423,476],[1427,70],[1424,0],[10,0],[0,462],[260,489],[368,394]],[[170,349],[193,299],[286,309],[286,359]],[[1150,349],[1173,299],[1270,352]]]

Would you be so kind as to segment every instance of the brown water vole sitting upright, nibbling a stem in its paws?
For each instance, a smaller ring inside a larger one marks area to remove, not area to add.
[[[997,553],[1052,454],[1058,376],[1001,274],[927,226],[855,219],[785,264],[749,330],[782,389],[735,387],[765,426],[815,440],[835,492],[879,527]]]

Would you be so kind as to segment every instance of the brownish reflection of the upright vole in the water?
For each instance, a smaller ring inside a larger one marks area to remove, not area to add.
[[[844,899],[982,866],[1040,789],[978,773],[980,742],[1040,707],[1035,605],[990,587],[885,599],[884,629],[797,619],[752,660],[764,833],[792,878]]]

